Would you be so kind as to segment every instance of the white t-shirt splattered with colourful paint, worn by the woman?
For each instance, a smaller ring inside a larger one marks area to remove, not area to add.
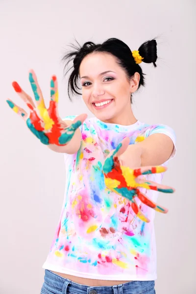
[[[80,149],[75,154],[64,154],[65,196],[43,268],[101,280],[155,280],[155,211],[136,197],[150,222],[138,219],[129,200],[105,187],[102,165],[109,151],[124,137],[130,138],[130,144],[137,144],[152,134],[163,133],[175,145],[175,134],[163,124],[137,121],[120,125],[103,123],[97,118],[87,118],[80,129]],[[170,159],[175,152],[174,147]],[[157,183],[162,177],[162,173],[145,175],[147,180]],[[144,188],[141,191],[157,202],[158,192]]]

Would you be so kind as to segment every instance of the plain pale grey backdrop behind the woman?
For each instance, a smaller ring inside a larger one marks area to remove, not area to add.
[[[40,293],[65,187],[63,154],[42,145],[5,100],[27,110],[11,82],[32,95],[28,70],[33,68],[47,103],[50,76],[57,75],[62,118],[91,116],[81,97],[69,102],[63,79],[61,57],[74,36],[80,44],[117,37],[132,50],[160,37],[158,67],[141,64],[147,86],[134,96],[133,106],[138,120],[170,125],[177,136],[177,155],[163,180],[176,192],[159,195],[169,213],[155,217],[156,292],[196,293],[195,14],[195,0],[0,0],[0,294]]]

